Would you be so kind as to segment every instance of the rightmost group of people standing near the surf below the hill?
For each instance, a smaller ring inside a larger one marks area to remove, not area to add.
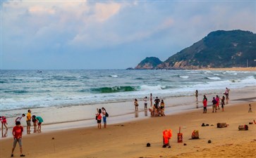
[[[224,105],[228,104],[228,100],[229,100],[229,91],[230,89],[226,88],[226,91],[224,93],[224,95],[226,96],[226,103],[225,103],[225,96],[222,96],[222,98],[219,98],[219,96],[213,97],[212,98],[212,112],[217,112],[217,110],[219,110],[219,103],[221,103],[221,110],[222,112],[224,112]],[[198,97],[198,91],[195,91],[195,98],[197,100]],[[202,105],[203,105],[203,109],[204,112],[203,113],[207,113],[207,98],[204,95],[204,98],[202,99]]]

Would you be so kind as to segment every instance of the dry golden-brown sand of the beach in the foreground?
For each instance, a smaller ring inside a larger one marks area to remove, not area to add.
[[[207,114],[202,109],[154,117],[139,121],[107,126],[106,129],[80,128],[33,133],[23,136],[23,153],[26,157],[256,157],[256,103],[252,113],[248,104],[226,105],[225,112]],[[219,129],[217,123],[226,122],[228,127]],[[204,126],[201,124],[214,126]],[[238,131],[238,126],[248,124],[248,131]],[[183,143],[177,143],[181,126]],[[162,131],[172,129],[171,148],[162,148]],[[10,129],[11,130],[11,129]],[[189,140],[193,130],[199,130],[199,140]],[[212,143],[207,143],[212,140]],[[10,157],[13,140],[0,140],[0,157]],[[146,147],[150,143],[151,147]],[[14,152],[19,156],[18,145]]]

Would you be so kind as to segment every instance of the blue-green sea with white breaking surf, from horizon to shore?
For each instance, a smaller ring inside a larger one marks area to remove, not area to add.
[[[1,112],[70,107],[256,86],[256,72],[207,70],[1,70]]]

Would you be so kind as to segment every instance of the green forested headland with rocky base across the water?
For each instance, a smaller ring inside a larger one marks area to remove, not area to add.
[[[134,69],[183,70],[248,66],[256,67],[256,34],[243,30],[218,30],[164,62],[157,57],[147,57]]]

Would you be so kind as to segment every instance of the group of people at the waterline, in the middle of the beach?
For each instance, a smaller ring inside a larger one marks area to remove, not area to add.
[[[164,106],[165,106],[164,100],[160,101],[160,99],[158,97],[156,97],[155,100],[154,100],[154,105],[152,103],[152,100],[153,100],[152,93],[150,93],[150,105],[151,106],[150,106],[149,110],[151,112],[151,117],[165,116],[165,114],[164,114]],[[144,109],[147,110],[147,101],[148,101],[147,96],[145,96],[145,98],[143,98],[143,101],[144,101]],[[135,106],[135,111],[138,111],[139,104],[138,104],[138,99],[137,98],[134,99],[134,106]]]

